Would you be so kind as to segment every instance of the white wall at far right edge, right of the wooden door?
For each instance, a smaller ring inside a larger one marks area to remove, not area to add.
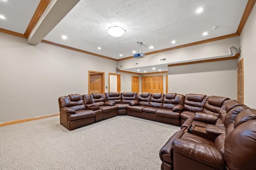
[[[242,47],[241,57],[244,58],[244,104],[256,109],[256,5],[240,35]]]

